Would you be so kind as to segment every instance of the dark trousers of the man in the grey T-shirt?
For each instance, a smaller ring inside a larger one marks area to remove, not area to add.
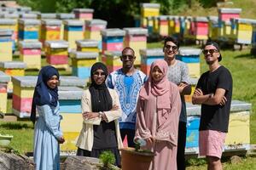
[[[187,123],[178,123],[177,134],[177,170],[186,169],[185,166],[185,146],[186,146]]]

